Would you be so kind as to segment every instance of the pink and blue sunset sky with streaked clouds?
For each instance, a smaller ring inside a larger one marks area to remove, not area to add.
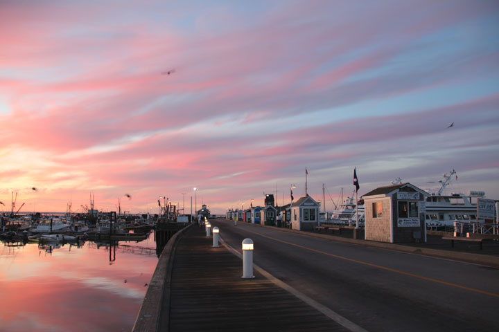
[[[499,199],[498,1],[4,0],[0,41],[4,211]]]

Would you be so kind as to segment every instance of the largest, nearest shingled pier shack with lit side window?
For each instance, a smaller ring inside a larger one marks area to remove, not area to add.
[[[365,239],[389,243],[426,242],[424,190],[402,183],[363,195]]]

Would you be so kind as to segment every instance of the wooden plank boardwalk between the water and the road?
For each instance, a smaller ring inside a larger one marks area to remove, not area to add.
[[[242,279],[243,261],[212,245],[198,226],[180,239],[159,331],[348,331],[256,270]]]

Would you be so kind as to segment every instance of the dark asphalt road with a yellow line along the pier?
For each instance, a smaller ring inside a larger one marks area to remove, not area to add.
[[[367,331],[498,331],[499,269],[211,220],[254,264]]]

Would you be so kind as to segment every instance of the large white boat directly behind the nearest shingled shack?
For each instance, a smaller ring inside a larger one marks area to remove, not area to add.
[[[426,225],[428,228],[453,226],[454,221],[477,221],[477,201],[484,198],[485,192],[464,192],[446,190],[453,178],[457,178],[453,169],[444,174],[443,180],[438,181],[441,187],[438,190],[428,189],[431,196],[426,199]]]

